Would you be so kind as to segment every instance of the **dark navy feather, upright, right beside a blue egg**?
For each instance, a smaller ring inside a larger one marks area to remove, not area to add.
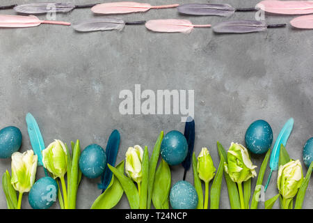
[[[195,145],[195,121],[190,116],[186,120],[184,136],[187,139],[188,143],[188,153],[186,159],[182,162],[184,167],[184,180],[186,178],[186,172],[191,167],[191,157],[193,154],[193,147]]]

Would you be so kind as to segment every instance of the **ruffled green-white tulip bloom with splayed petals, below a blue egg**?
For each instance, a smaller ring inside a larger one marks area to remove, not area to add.
[[[225,171],[232,181],[242,183],[251,177],[257,176],[257,172],[250,160],[248,150],[241,144],[230,145],[227,151],[227,163],[224,163]]]

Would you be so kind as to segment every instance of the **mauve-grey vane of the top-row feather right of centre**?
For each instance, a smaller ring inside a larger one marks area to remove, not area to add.
[[[177,7],[178,12],[186,15],[219,15],[230,16],[234,14],[234,7],[228,4],[191,3]]]

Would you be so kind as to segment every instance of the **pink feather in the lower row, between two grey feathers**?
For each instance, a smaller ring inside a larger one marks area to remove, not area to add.
[[[193,27],[211,27],[210,24],[194,25],[189,20],[149,20],[145,26],[151,31],[165,33],[190,33]]]

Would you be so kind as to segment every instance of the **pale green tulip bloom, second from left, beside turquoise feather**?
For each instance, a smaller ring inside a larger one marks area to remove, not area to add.
[[[42,151],[42,163],[54,178],[63,178],[67,171],[67,150],[60,140],[55,140]]]

